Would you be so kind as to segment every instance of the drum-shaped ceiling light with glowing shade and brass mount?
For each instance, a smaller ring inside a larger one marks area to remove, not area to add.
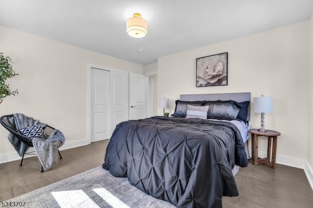
[[[139,13],[134,13],[134,16],[126,21],[126,31],[134,38],[142,38],[148,32],[148,22],[142,19]]]

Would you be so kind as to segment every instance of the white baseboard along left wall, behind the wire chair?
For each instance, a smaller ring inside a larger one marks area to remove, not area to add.
[[[63,146],[61,146],[59,149],[69,149],[69,148],[74,148],[78,146],[85,146],[90,144],[87,139],[82,139],[82,140],[76,140],[76,141],[70,141],[70,142],[65,142]],[[29,148],[27,152],[33,151],[33,147]],[[36,153],[34,153],[36,154]],[[29,157],[34,157],[36,155],[25,155],[24,158],[29,158]],[[7,163],[15,160],[21,160],[20,155],[17,152],[10,152],[6,154],[0,154],[0,164],[1,163]]]

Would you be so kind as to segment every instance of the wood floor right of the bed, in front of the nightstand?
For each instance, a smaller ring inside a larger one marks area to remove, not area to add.
[[[313,208],[313,190],[303,169],[251,161],[235,176],[238,197],[224,197],[224,208]]]

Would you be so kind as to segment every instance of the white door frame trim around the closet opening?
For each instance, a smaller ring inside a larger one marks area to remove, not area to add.
[[[87,77],[87,89],[86,89],[86,137],[87,144],[91,143],[91,68],[106,70],[106,71],[114,71],[123,74],[129,74],[127,71],[113,69],[110,67],[95,65],[91,63],[86,64],[86,77]],[[129,102],[129,101],[127,101]],[[128,103],[129,105],[129,103]]]

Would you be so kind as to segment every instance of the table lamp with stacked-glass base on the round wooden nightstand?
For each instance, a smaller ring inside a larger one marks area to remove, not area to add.
[[[264,114],[272,112],[272,98],[261,95],[261,97],[253,98],[253,103],[254,112],[261,113],[261,128],[258,131],[266,132],[267,130],[264,128]]]

